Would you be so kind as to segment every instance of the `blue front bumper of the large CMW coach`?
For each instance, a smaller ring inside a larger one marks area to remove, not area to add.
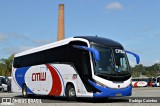
[[[88,80],[89,83],[100,90],[99,93],[93,93],[93,97],[104,98],[104,97],[117,97],[117,96],[131,96],[132,95],[132,85],[122,89],[112,89],[112,88],[104,88]]]

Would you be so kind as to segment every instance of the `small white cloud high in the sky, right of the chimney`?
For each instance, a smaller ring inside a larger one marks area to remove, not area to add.
[[[106,9],[108,9],[108,10],[122,10],[123,5],[119,2],[111,2],[106,5]]]

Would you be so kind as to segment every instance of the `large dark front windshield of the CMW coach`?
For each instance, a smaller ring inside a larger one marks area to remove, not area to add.
[[[96,75],[127,75],[129,64],[123,49],[93,44],[92,48],[99,51],[100,61],[95,61]]]

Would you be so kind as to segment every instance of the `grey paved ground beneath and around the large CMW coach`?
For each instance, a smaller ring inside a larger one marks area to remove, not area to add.
[[[65,97],[53,97],[53,96],[29,96],[28,98],[23,98],[21,93],[0,93],[0,104],[3,98],[11,98],[14,104],[8,105],[56,105],[56,106],[159,106],[160,105],[160,87],[143,87],[143,88],[133,88],[131,97],[113,97],[104,99],[93,99],[93,98],[77,98],[76,101],[68,101]],[[145,100],[145,101],[144,101]],[[148,101],[147,101],[148,100]],[[153,102],[153,103],[152,103]]]

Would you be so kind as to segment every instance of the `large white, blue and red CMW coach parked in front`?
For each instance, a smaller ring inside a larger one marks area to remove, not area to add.
[[[77,36],[18,53],[12,91],[29,94],[105,98],[132,94],[131,71],[122,45],[110,39]]]

